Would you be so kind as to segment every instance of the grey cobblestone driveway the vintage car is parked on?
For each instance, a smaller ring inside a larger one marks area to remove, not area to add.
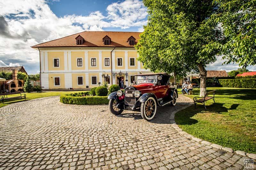
[[[243,169],[249,159],[175,124],[174,114],[189,106],[188,97],[179,96],[175,107],[158,107],[150,122],[139,112],[115,116],[106,105],[59,100],[45,97],[0,108],[0,170]]]

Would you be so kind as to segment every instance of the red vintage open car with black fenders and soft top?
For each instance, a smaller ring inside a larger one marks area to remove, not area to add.
[[[156,106],[176,105],[178,91],[170,85],[167,73],[137,74],[136,84],[108,95],[109,110],[119,115],[124,110],[140,111],[145,120],[156,115]]]

